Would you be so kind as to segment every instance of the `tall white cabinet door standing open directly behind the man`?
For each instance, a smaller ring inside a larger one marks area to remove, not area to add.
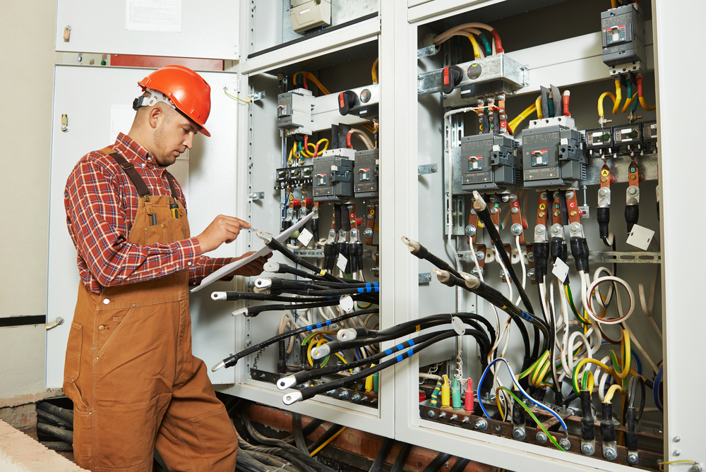
[[[54,115],[52,119],[52,175],[49,208],[49,274],[47,320],[64,318],[64,324],[47,332],[47,387],[61,387],[68,331],[78,294],[76,249],[66,229],[64,188],[78,159],[92,150],[112,144],[115,129],[127,133],[130,106],[140,95],[137,81],[150,73],[144,68],[93,68],[56,66],[54,71]],[[197,235],[218,214],[234,214],[236,195],[236,101],[222,90],[232,85],[236,74],[201,73],[211,86],[211,114],[208,130],[212,137],[198,134],[186,159],[174,170],[182,186],[188,186],[189,225]],[[61,116],[68,119],[68,131],[61,131]],[[127,124],[121,124],[125,123]],[[115,124],[112,124],[115,123]],[[240,192],[246,196],[246,189]],[[224,245],[213,257],[233,257],[244,241]],[[213,290],[233,289],[234,282],[217,282]],[[212,290],[191,296],[193,353],[210,367],[228,355],[235,345],[232,303],[210,300]],[[214,383],[233,383],[234,369],[210,373]]]

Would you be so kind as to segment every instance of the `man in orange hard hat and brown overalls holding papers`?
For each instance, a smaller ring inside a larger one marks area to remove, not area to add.
[[[184,194],[167,172],[193,135],[210,136],[208,83],[167,66],[138,84],[128,135],[82,157],[64,193],[82,279],[64,371],[74,456],[93,472],[142,472],[156,448],[172,471],[233,472],[237,436],[191,354],[188,284],[232,262],[203,253],[250,225],[220,215],[190,237]],[[260,274],[265,261],[237,274]]]

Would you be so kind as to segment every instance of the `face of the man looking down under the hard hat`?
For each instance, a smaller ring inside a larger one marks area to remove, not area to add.
[[[155,148],[152,154],[161,166],[174,164],[179,155],[191,149],[193,135],[198,133],[196,125],[173,109],[164,112],[164,119],[155,130]]]

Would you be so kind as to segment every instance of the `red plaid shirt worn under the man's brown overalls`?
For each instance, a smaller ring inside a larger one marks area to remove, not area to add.
[[[120,133],[111,146],[135,164],[152,195],[171,195],[165,175],[148,151]],[[174,178],[177,196],[186,210],[186,200]],[[100,151],[83,156],[64,190],[66,226],[78,251],[78,272],[90,291],[100,294],[104,286],[133,284],[189,269],[189,283],[231,262],[230,258],[201,255],[196,238],[171,244],[140,246],[128,241],[138,209],[138,194],[127,174]]]

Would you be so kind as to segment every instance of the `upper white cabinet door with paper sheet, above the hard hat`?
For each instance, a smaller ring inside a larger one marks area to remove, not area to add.
[[[59,0],[56,51],[237,59],[238,24],[234,0]]]

